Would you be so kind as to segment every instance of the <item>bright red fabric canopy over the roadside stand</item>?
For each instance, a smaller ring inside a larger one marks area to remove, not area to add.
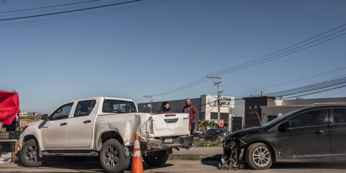
[[[18,92],[0,91],[0,123],[10,125],[19,113]]]

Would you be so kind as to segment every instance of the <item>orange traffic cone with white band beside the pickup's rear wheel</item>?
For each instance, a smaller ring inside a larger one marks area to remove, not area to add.
[[[135,135],[135,145],[133,146],[131,173],[143,173],[142,156],[140,155],[139,137],[137,133]]]

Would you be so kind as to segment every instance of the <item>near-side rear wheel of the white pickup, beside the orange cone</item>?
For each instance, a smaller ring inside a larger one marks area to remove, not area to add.
[[[130,165],[131,157],[126,157],[124,149],[116,139],[103,143],[100,150],[100,161],[106,172],[123,172]]]

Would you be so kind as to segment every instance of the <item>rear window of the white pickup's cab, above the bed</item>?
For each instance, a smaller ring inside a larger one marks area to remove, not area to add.
[[[106,112],[106,113],[136,112],[136,106],[131,101],[106,99],[103,101],[102,112]]]

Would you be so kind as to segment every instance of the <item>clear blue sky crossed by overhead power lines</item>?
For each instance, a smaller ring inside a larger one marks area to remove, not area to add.
[[[0,12],[71,2],[82,0],[2,1]],[[102,2],[114,1],[96,1],[73,7]],[[346,24],[345,5],[346,1],[342,0],[180,0],[35,26],[3,28],[1,24],[101,9],[0,21],[0,90],[16,90],[22,111],[44,113],[63,102],[85,97],[137,99],[142,95],[158,94]],[[67,6],[52,9],[59,8]],[[85,7],[75,9],[79,8]],[[102,10],[111,8],[115,7]],[[47,9],[0,13],[0,19],[55,12],[4,16],[43,10]],[[221,75],[221,90],[224,90],[224,95],[251,91],[346,67],[345,41],[346,35],[340,36],[267,63]],[[265,89],[264,93],[323,81],[345,72],[343,69]],[[187,98],[189,94],[191,98],[198,98],[202,94],[216,95],[216,92],[217,88],[208,80],[154,99],[177,100]],[[260,94],[260,91],[234,96],[250,94]],[[346,97],[346,90],[306,98],[320,97]],[[141,102],[147,100],[138,101]]]

